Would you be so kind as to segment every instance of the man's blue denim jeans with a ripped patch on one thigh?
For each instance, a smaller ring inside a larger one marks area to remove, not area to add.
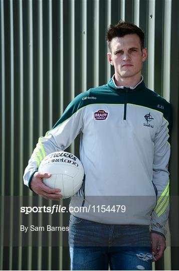
[[[102,224],[70,216],[71,270],[152,270],[149,226]]]

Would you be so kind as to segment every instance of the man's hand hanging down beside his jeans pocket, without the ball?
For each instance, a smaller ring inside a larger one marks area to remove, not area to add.
[[[151,245],[152,245],[151,248],[152,254],[155,257],[155,259],[158,260],[159,258],[161,258],[166,248],[164,237],[155,232],[151,232]]]

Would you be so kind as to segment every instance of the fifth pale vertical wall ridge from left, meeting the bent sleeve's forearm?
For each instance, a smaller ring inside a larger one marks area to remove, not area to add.
[[[43,2],[38,2],[38,66],[39,66],[39,135],[43,135]],[[42,197],[38,198],[39,206],[42,206]],[[42,213],[38,216],[38,224],[42,225]],[[42,232],[38,234],[38,269],[42,269]]]

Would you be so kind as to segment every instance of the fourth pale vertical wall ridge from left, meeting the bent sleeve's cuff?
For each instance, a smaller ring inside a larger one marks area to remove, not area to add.
[[[28,74],[28,90],[29,90],[29,155],[33,152],[33,116],[34,116],[34,95],[33,95],[33,2],[28,1],[28,41],[29,41],[29,50],[28,50],[28,61],[29,61],[29,74]],[[32,191],[29,190],[29,206],[32,206]],[[29,217],[29,225],[32,225],[32,216]],[[28,240],[31,243],[32,232],[28,233]],[[32,245],[28,246],[28,269],[32,269]]]

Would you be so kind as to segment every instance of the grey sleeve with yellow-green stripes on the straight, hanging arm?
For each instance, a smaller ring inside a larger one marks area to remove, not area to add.
[[[154,139],[153,184],[157,191],[157,203],[151,216],[151,230],[159,234],[166,234],[165,224],[169,214],[169,172],[170,156],[171,107],[162,117]]]

